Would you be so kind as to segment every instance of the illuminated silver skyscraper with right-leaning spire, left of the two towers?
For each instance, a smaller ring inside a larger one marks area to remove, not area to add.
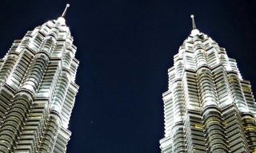
[[[58,20],[14,41],[0,60],[1,153],[66,152],[79,63],[67,7]]]

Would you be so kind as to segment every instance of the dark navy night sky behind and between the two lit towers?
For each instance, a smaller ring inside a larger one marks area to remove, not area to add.
[[[61,16],[63,0],[0,1],[0,57],[27,30]],[[80,86],[68,153],[158,153],[162,92],[174,54],[198,29],[237,60],[256,91],[256,1],[70,1]]]

